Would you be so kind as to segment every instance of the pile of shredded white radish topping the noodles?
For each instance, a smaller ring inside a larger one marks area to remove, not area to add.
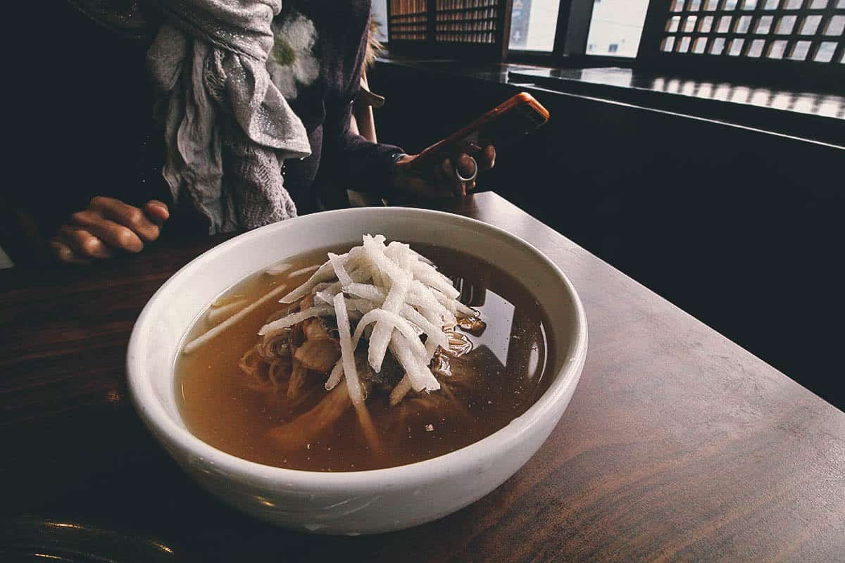
[[[461,292],[451,280],[410,246],[398,241],[385,245],[383,235],[363,235],[362,241],[346,254],[329,252],[329,259],[313,267],[305,283],[281,299],[294,303],[312,296],[313,306],[268,322],[259,334],[271,335],[310,317],[335,317],[341,359],[330,371],[325,388],[346,382],[358,420],[368,441],[375,445],[364,405],[366,391],[355,363],[362,338],[367,339],[367,360],[374,371],[381,371],[384,355],[390,350],[405,372],[390,392],[390,403],[396,404],[412,390],[431,392],[440,388],[429,364],[438,349],[450,348],[444,327],[454,326],[456,316],[477,313],[457,299]],[[292,267],[288,264],[286,268]]]

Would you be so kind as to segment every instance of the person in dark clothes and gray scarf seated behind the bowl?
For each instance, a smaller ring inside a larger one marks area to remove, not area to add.
[[[152,37],[146,62],[160,128],[149,142],[163,144],[166,186],[154,178],[128,197],[105,189],[68,209],[50,242],[60,261],[139,252],[168,221],[215,234],[344,207],[347,187],[453,196],[493,167],[488,146],[444,160],[426,178],[410,176],[400,148],[353,132],[352,102],[372,59],[368,0],[113,4],[74,2],[124,35]]]

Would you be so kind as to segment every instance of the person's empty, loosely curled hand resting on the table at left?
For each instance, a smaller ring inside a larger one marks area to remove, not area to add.
[[[97,196],[59,227],[50,241],[52,254],[59,262],[90,263],[117,252],[140,252],[144,243],[158,238],[168,217],[166,204],[155,199],[141,209]]]

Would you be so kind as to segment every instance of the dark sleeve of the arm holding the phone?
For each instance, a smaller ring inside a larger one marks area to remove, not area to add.
[[[361,67],[367,48],[369,17],[361,22],[361,34],[357,35],[357,51],[350,52],[342,66],[347,76],[335,77],[346,87],[332,107],[326,108],[324,122],[324,160],[336,167],[338,181],[359,192],[384,196],[390,192],[393,179],[393,165],[399,147],[385,143],[371,143],[357,133],[350,131],[352,100],[361,89]],[[353,44],[354,45],[354,44]],[[326,158],[328,157],[328,158]]]

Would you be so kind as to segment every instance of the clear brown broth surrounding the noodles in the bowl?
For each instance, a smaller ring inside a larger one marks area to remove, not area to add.
[[[322,263],[324,249],[293,259],[294,268]],[[481,311],[487,329],[471,336],[472,352],[453,359],[453,371],[469,370],[471,387],[449,386],[455,402],[434,392],[434,408],[409,400],[390,407],[387,397],[373,392],[367,400],[381,449],[368,447],[354,409],[347,409],[335,425],[302,447],[283,449],[268,436],[277,425],[295,419],[322,396],[293,406],[285,393],[257,390],[238,367],[238,360],[256,342],[259,328],[281,308],[276,300],[259,307],[236,326],[189,355],[179,355],[175,370],[177,397],[188,429],[224,452],[258,463],[308,471],[358,471],[414,463],[453,452],[493,434],[523,414],[548,387],[547,365],[553,365],[548,322],[541,306],[510,274],[462,252],[420,244],[412,247],[430,258],[457,284],[461,301]],[[277,284],[295,288],[308,278],[255,273],[224,294],[259,299]],[[205,316],[201,316],[204,319]],[[207,330],[204,321],[191,328],[188,339]]]

